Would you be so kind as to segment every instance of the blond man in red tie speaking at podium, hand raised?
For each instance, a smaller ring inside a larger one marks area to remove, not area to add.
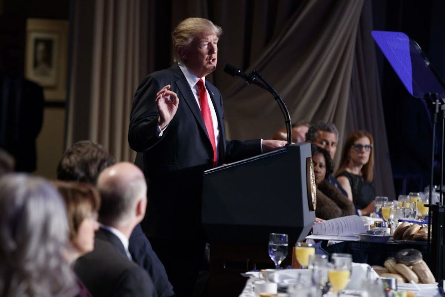
[[[178,24],[172,32],[174,65],[144,78],[130,114],[129,145],[143,152],[149,179],[142,229],[177,296],[192,296],[203,257],[202,173],[286,144],[226,140],[221,93],[206,81],[216,69],[221,34],[202,18]]]

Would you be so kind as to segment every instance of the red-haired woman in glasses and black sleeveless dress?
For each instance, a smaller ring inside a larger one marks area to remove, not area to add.
[[[338,182],[348,193],[361,215],[374,212],[376,197],[372,179],[374,175],[374,139],[364,130],[352,132],[343,146],[340,167],[336,172]]]

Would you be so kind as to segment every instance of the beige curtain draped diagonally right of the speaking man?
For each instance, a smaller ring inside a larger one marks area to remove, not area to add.
[[[343,131],[362,6],[360,0],[307,1],[247,69],[274,86],[293,121],[326,120]],[[270,138],[284,126],[264,90],[237,79],[222,92],[231,138]]]

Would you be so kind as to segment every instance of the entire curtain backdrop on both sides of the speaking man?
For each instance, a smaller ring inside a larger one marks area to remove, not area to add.
[[[134,159],[127,142],[134,91],[154,70],[155,1],[75,1],[67,145],[104,144],[117,160]],[[333,122],[344,136],[366,129],[376,142],[376,191],[393,195],[388,144],[364,0],[173,0],[171,27],[206,17],[223,28],[218,69],[208,76],[225,103],[227,138],[271,138],[284,119],[271,94],[223,73],[227,62],[258,70],[286,102],[291,118]],[[89,24],[89,25],[88,25]],[[93,35],[85,40],[85,32]],[[90,59],[88,59],[90,57]],[[86,73],[86,74],[85,74]]]

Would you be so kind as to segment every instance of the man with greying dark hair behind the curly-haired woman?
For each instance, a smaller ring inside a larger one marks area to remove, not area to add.
[[[311,142],[316,146],[320,146],[329,152],[332,160],[334,159],[335,153],[337,151],[337,144],[339,133],[337,127],[331,122],[316,122],[309,127],[306,133],[306,142]],[[348,194],[344,191],[343,187],[337,181],[335,177],[329,175],[329,183],[336,186],[346,197]]]

